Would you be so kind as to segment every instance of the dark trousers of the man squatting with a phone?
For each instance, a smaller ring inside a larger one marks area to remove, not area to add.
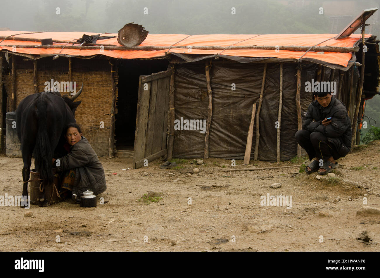
[[[314,157],[327,161],[331,156],[337,160],[339,156],[334,145],[328,142],[325,134],[318,131],[310,133],[307,130],[298,130],[296,132],[296,140],[298,144],[304,148],[309,155],[309,160]]]

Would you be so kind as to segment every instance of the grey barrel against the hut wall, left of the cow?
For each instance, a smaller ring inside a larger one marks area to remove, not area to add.
[[[17,136],[16,111],[6,113],[5,117],[6,136],[5,136],[5,155],[22,157],[21,142]]]

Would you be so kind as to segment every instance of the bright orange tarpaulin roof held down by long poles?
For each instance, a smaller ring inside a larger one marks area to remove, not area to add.
[[[0,31],[0,36],[10,36],[14,34],[28,33],[27,31]],[[31,33],[17,35],[20,38],[36,38],[45,39],[52,38],[53,40],[67,40],[72,41],[79,39],[83,34],[97,35],[98,33],[86,33],[86,32],[43,32],[43,33]],[[101,36],[116,36],[117,34],[102,34]],[[183,53],[183,54],[219,54],[229,56],[240,57],[275,57],[275,58],[300,58],[305,52],[303,51],[287,51],[280,50],[278,52],[274,50],[199,50],[199,49],[180,49],[174,48],[175,46],[314,46],[326,39],[332,38],[336,34],[271,34],[271,35],[183,35],[183,34],[148,34],[145,41],[140,46],[172,46],[169,53]],[[324,43],[318,44],[318,46],[339,46],[339,47],[353,47],[356,41],[360,39],[361,35],[350,35],[343,39],[329,39]],[[369,38],[371,35],[365,35]],[[188,37],[188,38],[187,38]],[[184,40],[182,40],[184,39]],[[182,41],[181,41],[182,40]],[[1,40],[0,40],[1,41]],[[180,41],[180,42],[179,42]],[[101,39],[97,41],[98,44],[115,44],[117,38]],[[14,41],[5,40],[0,43],[1,49],[8,49],[12,51],[12,47],[5,47],[3,45],[40,45],[40,42],[33,41]],[[54,45],[65,45],[64,43],[54,43]],[[71,44],[68,44],[71,45]],[[76,44],[78,45],[78,44]],[[92,55],[106,55],[114,58],[135,59],[135,58],[158,58],[165,56],[166,50],[159,51],[142,51],[142,50],[103,50],[100,49],[46,49],[46,48],[24,48],[18,47],[16,49],[19,53],[24,54],[66,54],[66,55],[79,55],[79,56],[92,56]],[[320,52],[319,52],[320,53]],[[317,52],[309,51],[302,58],[313,58],[327,63],[337,64],[347,67],[348,61],[351,59],[351,53],[338,53],[338,52],[324,52],[317,54]]]

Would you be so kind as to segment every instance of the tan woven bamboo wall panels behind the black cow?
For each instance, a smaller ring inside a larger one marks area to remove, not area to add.
[[[98,156],[108,156],[111,130],[112,80],[110,65],[105,59],[72,58],[73,81],[83,91],[76,101],[82,101],[75,112],[82,135],[88,139]],[[19,59],[16,70],[16,107],[22,99],[34,93],[33,62]],[[11,90],[11,75],[5,77],[5,88]],[[46,81],[69,81],[68,59],[42,58],[38,60],[38,91],[43,92]],[[70,93],[70,92],[69,92]],[[68,93],[68,94],[69,94]],[[61,92],[62,95],[67,94]],[[116,86],[117,96],[117,86]],[[104,122],[104,128],[100,128]]]

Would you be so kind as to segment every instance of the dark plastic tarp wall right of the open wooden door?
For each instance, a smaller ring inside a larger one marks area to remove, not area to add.
[[[283,64],[283,96],[280,128],[280,159],[289,160],[297,153],[294,134],[298,130],[296,90],[298,63]],[[214,158],[244,158],[252,106],[260,100],[263,81],[263,63],[231,63],[214,61],[210,69],[212,88],[212,121],[209,136],[209,156]],[[318,65],[303,63],[301,66],[301,115],[310,102],[313,93],[305,92],[305,82],[317,80]],[[357,72],[357,70],[356,70]],[[335,71],[325,68],[321,81],[343,81],[342,95],[348,99],[351,71]],[[347,76],[346,76],[347,75]],[[353,96],[356,94],[358,76],[354,78]],[[233,86],[235,85],[235,90]],[[176,65],[175,77],[175,119],[207,120],[208,96],[204,62]],[[339,86],[339,85],[337,85]],[[258,160],[276,161],[277,128],[280,93],[280,64],[268,63],[259,117],[260,141]],[[257,109],[257,108],[256,108]],[[257,112],[257,110],[256,110]],[[204,136],[201,130],[176,130],[173,156],[192,158],[203,157]],[[256,144],[256,118],[253,130],[251,157]]]

